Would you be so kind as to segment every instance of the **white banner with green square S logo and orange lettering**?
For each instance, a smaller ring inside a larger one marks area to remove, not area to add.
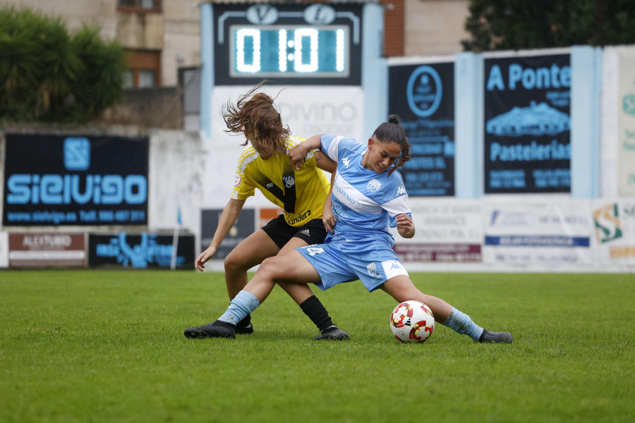
[[[635,264],[635,200],[594,200],[593,245],[601,264]]]

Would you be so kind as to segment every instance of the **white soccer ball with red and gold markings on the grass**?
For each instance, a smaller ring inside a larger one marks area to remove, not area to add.
[[[390,314],[390,330],[401,342],[425,342],[435,329],[435,317],[423,302],[404,301]]]

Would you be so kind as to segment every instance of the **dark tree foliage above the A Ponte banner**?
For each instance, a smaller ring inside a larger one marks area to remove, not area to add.
[[[633,0],[471,0],[466,51],[635,43]]]

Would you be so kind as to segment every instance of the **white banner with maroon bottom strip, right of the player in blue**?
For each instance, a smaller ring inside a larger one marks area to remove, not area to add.
[[[483,215],[478,202],[426,201],[411,204],[413,238],[396,229],[394,251],[404,262],[481,262]]]

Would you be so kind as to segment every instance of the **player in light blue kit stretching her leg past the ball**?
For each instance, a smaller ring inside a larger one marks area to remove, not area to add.
[[[258,307],[277,282],[315,283],[326,290],[359,279],[369,292],[380,288],[398,302],[425,303],[436,321],[474,341],[514,341],[511,333],[485,331],[444,300],[422,293],[392,250],[394,238],[388,226],[397,227],[404,238],[415,234],[406,188],[395,171],[409,160],[409,147],[396,115],[377,127],[368,146],[350,137],[329,134],[315,135],[298,145],[290,154],[294,166],[300,166],[309,149],[322,149],[337,162],[330,196],[333,216],[325,219],[330,222],[326,225],[329,234],[325,244],[308,245],[265,259],[226,312],[214,322],[212,336],[233,337],[236,323]]]

